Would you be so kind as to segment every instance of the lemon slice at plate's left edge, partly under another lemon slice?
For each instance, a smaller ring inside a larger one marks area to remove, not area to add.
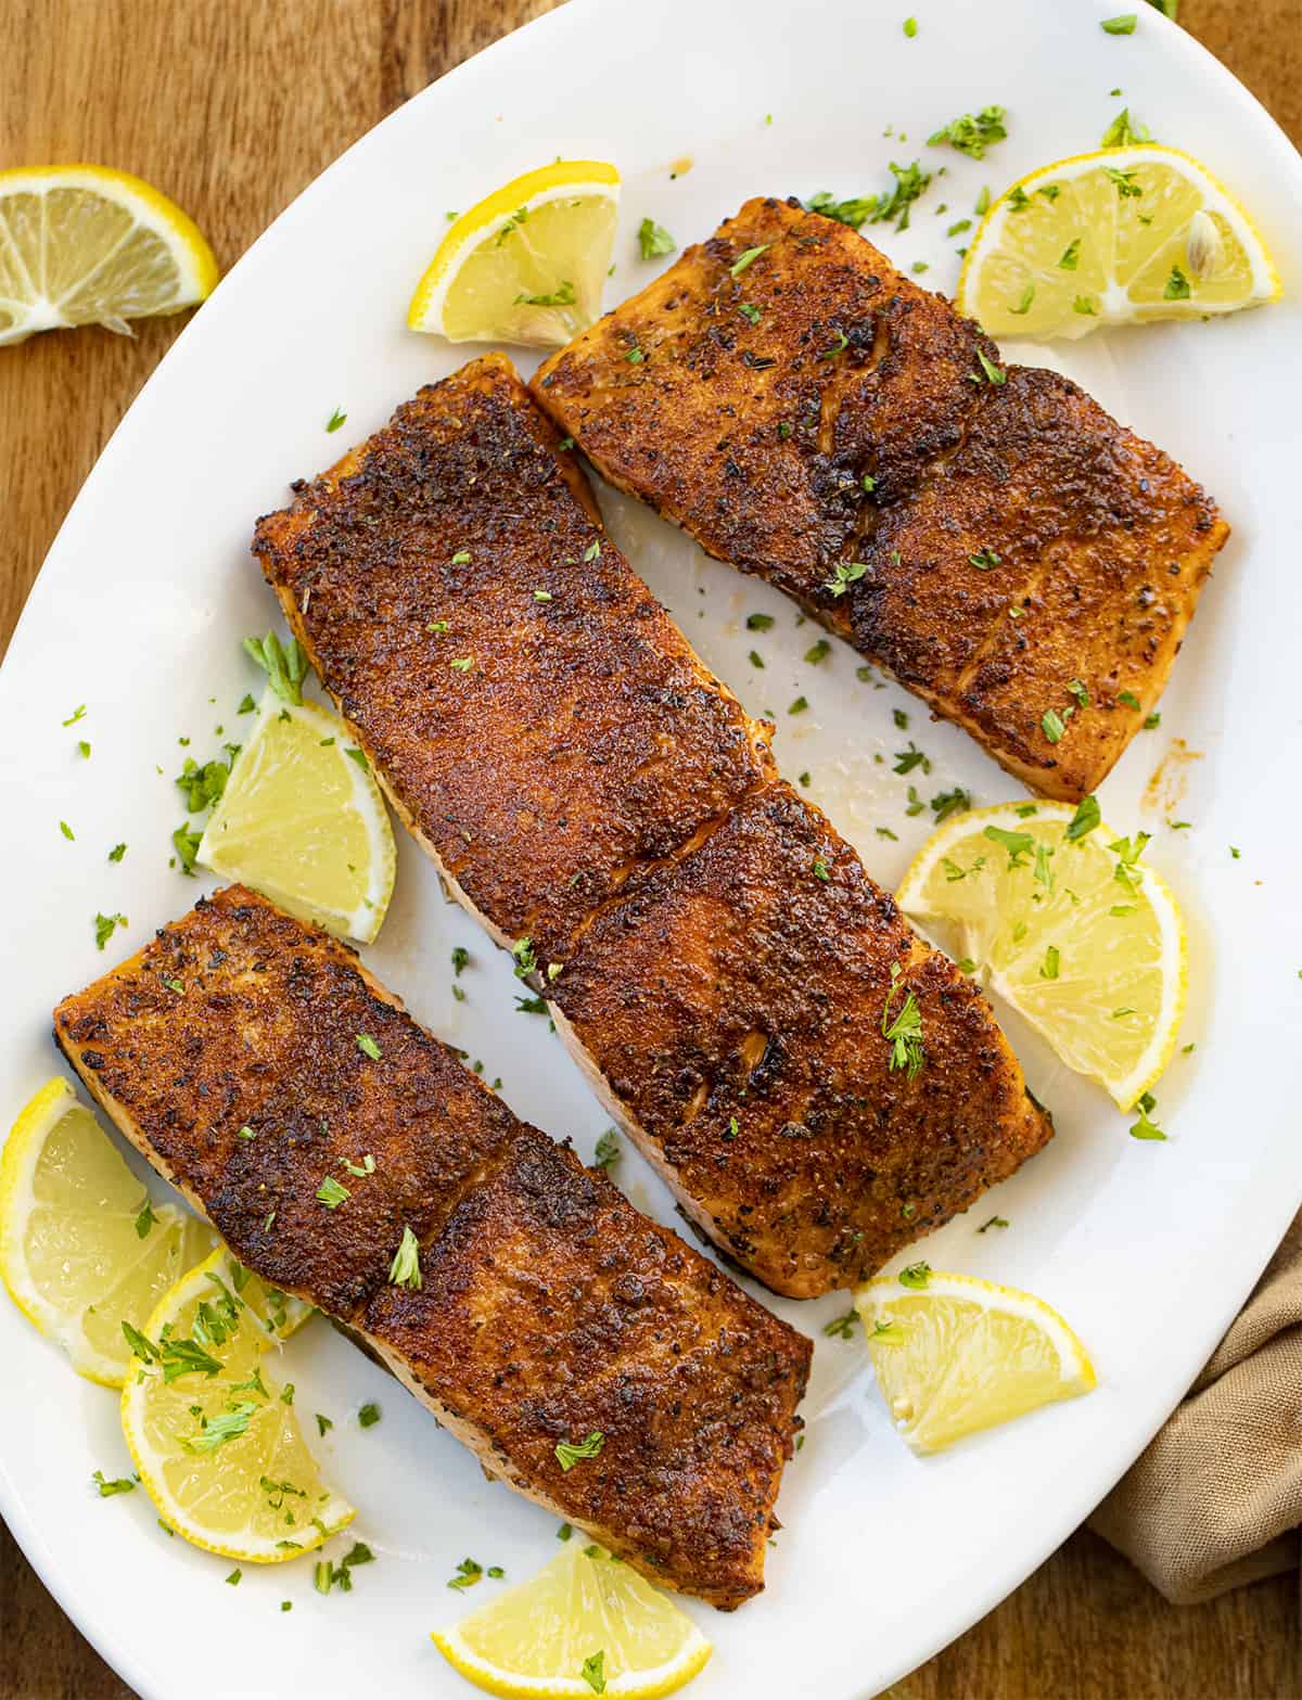
[[[150,1204],[65,1080],[24,1107],[0,1156],[0,1275],[73,1368],[121,1387],[136,1328],[216,1236],[189,1210]]]

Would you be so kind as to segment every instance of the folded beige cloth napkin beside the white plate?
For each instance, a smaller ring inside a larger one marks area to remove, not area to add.
[[[1302,1216],[1207,1368],[1090,1527],[1176,1605],[1299,1566]]]

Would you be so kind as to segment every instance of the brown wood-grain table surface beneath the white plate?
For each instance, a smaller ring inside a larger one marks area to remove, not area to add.
[[[0,0],[0,167],[95,160],[138,172],[180,201],[226,269],[377,119],[551,3]],[[1181,22],[1302,141],[1302,0],[1183,0]],[[0,354],[0,643],[180,323],[144,323],[131,342],[99,330],[37,337]],[[1176,1608],[1078,1532],[908,1688],[914,1700],[1295,1700],[1297,1578]],[[56,1697],[129,1690],[0,1523],[0,1700]]]

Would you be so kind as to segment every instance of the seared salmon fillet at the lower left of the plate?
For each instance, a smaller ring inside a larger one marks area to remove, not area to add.
[[[347,947],[233,886],[66,998],[54,1037],[235,1256],[355,1331],[490,1476],[665,1586],[760,1591],[809,1341],[518,1122]],[[389,1284],[405,1227],[418,1290]]]

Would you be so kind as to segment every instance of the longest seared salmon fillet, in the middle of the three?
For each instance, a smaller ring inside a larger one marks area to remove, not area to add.
[[[423,389],[253,549],[398,814],[760,1280],[852,1285],[1049,1137],[984,998],[777,779],[507,360]],[[884,1034],[909,991],[916,1074]]]

